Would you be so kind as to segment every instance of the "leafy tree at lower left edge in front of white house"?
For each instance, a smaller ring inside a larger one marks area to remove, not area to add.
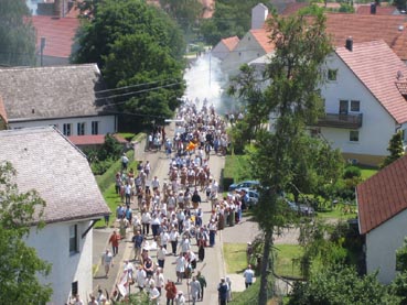
[[[24,242],[34,217],[42,217],[45,201],[35,190],[20,193],[14,176],[10,163],[0,164],[0,299],[2,304],[46,303],[52,290],[36,276],[46,276],[51,265]]]

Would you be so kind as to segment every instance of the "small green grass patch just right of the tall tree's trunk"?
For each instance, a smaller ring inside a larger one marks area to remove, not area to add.
[[[302,248],[298,244],[276,244],[276,273],[287,277],[302,277],[299,260]]]

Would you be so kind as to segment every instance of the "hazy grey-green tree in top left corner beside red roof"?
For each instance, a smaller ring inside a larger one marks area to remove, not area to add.
[[[35,30],[24,1],[1,1],[0,65],[35,65]]]

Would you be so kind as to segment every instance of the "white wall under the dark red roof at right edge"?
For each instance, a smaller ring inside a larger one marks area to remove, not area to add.
[[[366,269],[378,272],[378,281],[388,284],[396,275],[396,250],[407,236],[407,210],[404,210],[366,235]]]

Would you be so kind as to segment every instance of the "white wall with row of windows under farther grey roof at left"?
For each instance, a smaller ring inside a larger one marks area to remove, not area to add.
[[[99,122],[99,134],[114,133],[117,131],[115,116],[9,122],[9,126],[11,129],[20,129],[20,128],[28,128],[28,127],[42,127],[42,126],[56,126],[61,132],[64,132],[64,123],[72,123],[72,134],[71,135],[77,135],[77,123],[81,123],[81,122],[86,122],[85,134],[92,134],[92,122],[93,121]]]

